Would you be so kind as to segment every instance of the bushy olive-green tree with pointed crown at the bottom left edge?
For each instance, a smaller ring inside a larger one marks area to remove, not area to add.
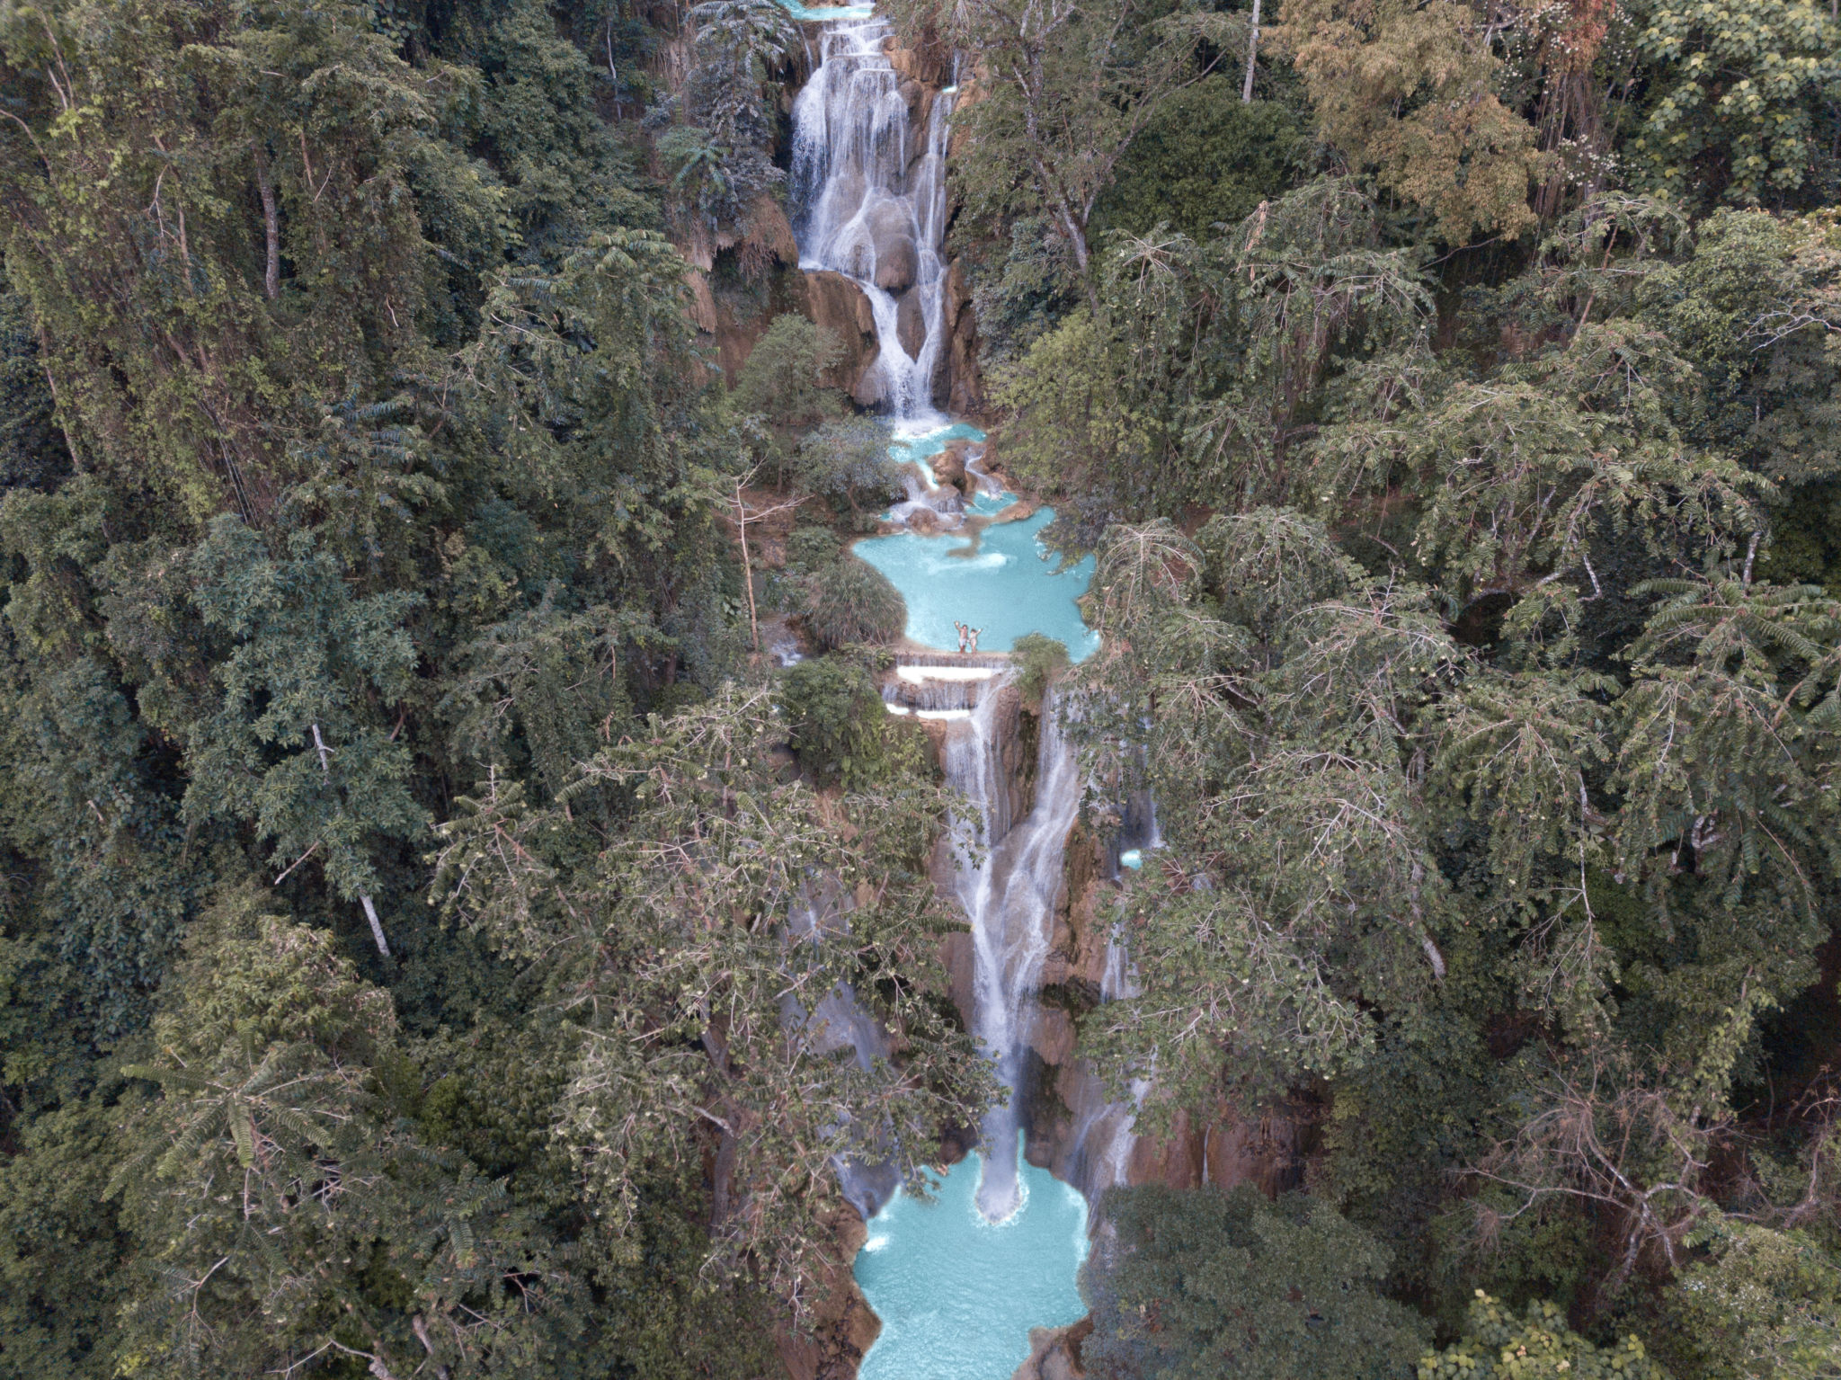
[[[503,1181],[405,1130],[416,1071],[388,994],[249,894],[197,927],[180,979],[158,1060],[125,1069],[158,1095],[127,1102],[107,1190],[158,1279],[123,1308],[123,1360],[153,1374],[536,1360],[519,1316],[565,1277]]]

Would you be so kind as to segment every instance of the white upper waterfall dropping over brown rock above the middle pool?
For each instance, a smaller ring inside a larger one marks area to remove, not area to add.
[[[952,92],[930,101],[902,83],[882,52],[889,35],[871,17],[819,37],[819,64],[793,101],[793,230],[801,269],[841,272],[869,298],[878,351],[858,401],[937,423]]]

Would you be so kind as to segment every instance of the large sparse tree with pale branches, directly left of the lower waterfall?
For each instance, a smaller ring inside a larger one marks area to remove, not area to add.
[[[602,749],[571,789],[633,819],[580,865],[562,810],[481,791],[438,828],[431,894],[569,1012],[560,1133],[609,1229],[637,1229],[659,1167],[709,1154],[711,1259],[805,1308],[839,1159],[917,1174],[990,1080],[933,999],[937,788],[904,765],[832,804],[781,776],[782,734],[768,690],[729,684]],[[834,992],[898,1032],[898,1065],[812,1019]]]

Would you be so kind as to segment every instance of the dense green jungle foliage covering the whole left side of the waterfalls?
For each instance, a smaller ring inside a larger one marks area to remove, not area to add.
[[[933,769],[747,655],[738,486],[878,478],[700,353],[792,28],[687,22],[0,15],[0,1374],[770,1374],[983,1106]]]

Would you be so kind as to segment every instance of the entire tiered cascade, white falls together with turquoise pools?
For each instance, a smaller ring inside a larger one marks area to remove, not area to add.
[[[793,11],[816,18],[821,11]],[[985,471],[983,432],[950,425],[933,410],[946,359],[946,138],[954,88],[906,83],[884,52],[891,28],[862,11],[827,18],[819,61],[793,101],[793,232],[806,272],[854,282],[876,328],[874,362],[856,401],[895,420],[902,443],[891,456],[909,473],[908,502],[889,517],[915,530],[880,541],[919,543],[891,550],[874,541],[856,554],[882,569],[909,604],[913,642],[954,646],[954,620],[968,620],[989,653],[1024,633],[1062,638],[1075,661],[1095,638],[1075,600],[1092,563],[1049,563],[1036,539],[1053,510],[1007,523],[1016,495]],[[946,445],[968,442],[963,488],[930,464]],[[978,548],[954,537],[928,546],[930,532],[978,534]],[[941,580],[939,558],[955,580]],[[924,596],[933,592],[932,604]],[[933,609],[933,605],[939,605]],[[939,618],[932,618],[932,613]],[[935,626],[937,624],[937,626]],[[909,659],[886,681],[889,712],[944,721],[946,780],[972,804],[952,824],[959,865],[955,891],[972,927],[972,1027],[1005,1084],[1003,1104],[983,1121],[983,1154],[941,1179],[935,1203],[891,1189],[882,1167],[839,1163],[851,1202],[869,1218],[854,1271],[882,1321],[863,1358],[865,1380],[952,1374],[1003,1380],[1029,1354],[1031,1327],[1075,1321],[1084,1303],[1075,1271],[1086,1255],[1086,1203],[1077,1189],[1022,1165],[1020,1084],[1036,1019],[1053,903],[1083,780],[1053,697],[1044,705],[1035,800],[1014,806],[1003,729],[1013,721],[1013,672],[1002,655]],[[1018,819],[1016,815],[1022,813]],[[808,1018],[863,1056],[849,992],[828,994]],[[841,1052],[843,1043],[838,1045]],[[972,1181],[976,1179],[976,1190]],[[954,1205],[965,1203],[961,1214]],[[976,1203],[976,1207],[974,1207]]]

